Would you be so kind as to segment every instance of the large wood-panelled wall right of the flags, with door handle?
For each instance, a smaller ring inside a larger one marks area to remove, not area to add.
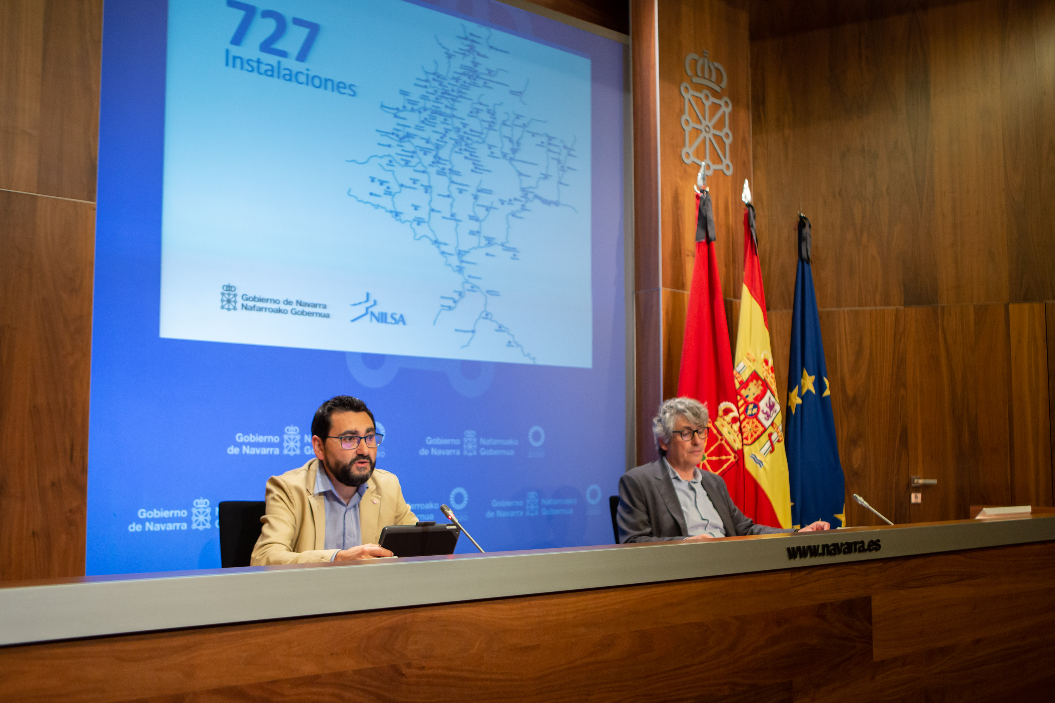
[[[904,371],[832,390],[847,491],[885,493],[899,522],[1050,496],[1035,467],[1053,466],[1055,345],[1039,307],[1016,304],[1055,297],[1055,6],[784,0],[752,3],[750,24],[770,319],[791,308],[800,208],[829,370],[888,354],[857,315],[904,316]],[[858,461],[899,446],[908,475],[939,479],[919,506],[903,463]]]

